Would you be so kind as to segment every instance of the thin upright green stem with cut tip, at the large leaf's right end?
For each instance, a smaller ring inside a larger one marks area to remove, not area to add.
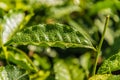
[[[101,53],[101,47],[102,47],[102,43],[103,43],[103,40],[104,40],[106,29],[108,27],[109,18],[110,18],[109,15],[106,16],[103,34],[102,34],[102,37],[101,37],[101,40],[100,40],[100,43],[99,43],[98,49],[97,49],[97,56],[96,56],[95,65],[94,65],[94,68],[93,68],[93,75],[95,75],[95,73],[96,73],[97,62],[98,62],[99,55]]]

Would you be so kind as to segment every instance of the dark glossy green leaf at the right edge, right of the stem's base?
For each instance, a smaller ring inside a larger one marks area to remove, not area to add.
[[[105,60],[97,73],[105,74],[117,70],[120,70],[120,52]]]

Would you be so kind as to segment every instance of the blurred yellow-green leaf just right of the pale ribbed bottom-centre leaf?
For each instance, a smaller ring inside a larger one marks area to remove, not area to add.
[[[69,57],[65,59],[67,67],[70,71],[72,80],[84,80],[85,79],[85,69],[83,69],[79,63],[79,59],[75,57]]]

